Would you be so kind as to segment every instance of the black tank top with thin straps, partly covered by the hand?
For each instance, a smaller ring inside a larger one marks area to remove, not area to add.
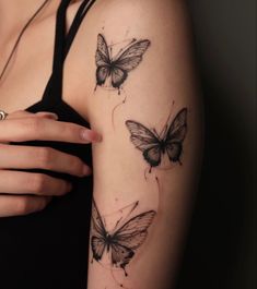
[[[66,12],[70,2],[60,1],[58,9],[52,73],[47,88],[43,99],[27,108],[27,111],[51,111],[58,115],[59,121],[90,129],[90,123],[61,99],[61,86],[63,61],[84,15],[95,1],[80,2],[78,13],[66,34]],[[12,145],[51,147],[73,155],[93,167],[91,144],[30,141],[15,142]],[[0,288],[86,288],[93,176],[79,178],[47,169],[24,171],[69,181],[72,183],[72,190],[65,196],[52,197],[52,202],[42,212],[0,218],[0,248],[4,248],[1,250]],[[10,274],[15,278],[11,278]]]

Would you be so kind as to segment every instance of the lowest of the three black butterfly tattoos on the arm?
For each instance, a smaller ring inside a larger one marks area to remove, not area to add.
[[[101,217],[93,200],[91,237],[93,258],[100,262],[104,253],[109,253],[112,266],[124,269],[125,275],[128,276],[126,266],[147,239],[148,228],[152,224],[155,214],[154,210],[144,212],[121,226],[117,221],[114,231],[109,232],[106,230],[104,218]]]

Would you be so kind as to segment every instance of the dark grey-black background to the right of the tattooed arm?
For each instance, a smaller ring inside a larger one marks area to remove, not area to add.
[[[206,106],[206,152],[177,288],[255,289],[256,2],[188,4]]]

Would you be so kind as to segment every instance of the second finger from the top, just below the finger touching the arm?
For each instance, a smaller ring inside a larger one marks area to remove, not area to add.
[[[77,177],[91,174],[80,158],[51,147],[0,144],[0,169],[46,169]]]

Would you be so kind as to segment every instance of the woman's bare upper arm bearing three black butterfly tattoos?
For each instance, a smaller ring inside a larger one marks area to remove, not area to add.
[[[97,10],[89,115],[103,143],[93,145],[89,289],[171,288],[202,153],[186,4]]]

